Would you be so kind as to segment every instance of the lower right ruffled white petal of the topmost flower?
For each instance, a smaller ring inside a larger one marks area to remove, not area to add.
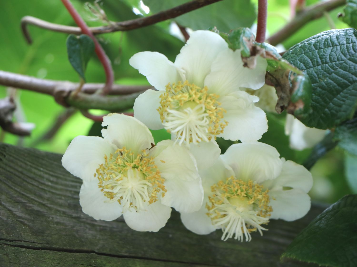
[[[268,130],[268,120],[265,112],[254,105],[255,98],[244,91],[222,98],[221,106],[227,111],[223,119],[228,125],[218,137],[242,142],[257,141],[262,137]]]

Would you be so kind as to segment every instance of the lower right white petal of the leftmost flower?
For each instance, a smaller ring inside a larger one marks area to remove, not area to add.
[[[201,208],[203,188],[200,177],[193,181],[169,179],[165,181],[164,185],[167,192],[161,199],[162,204],[186,213],[197,211]]]

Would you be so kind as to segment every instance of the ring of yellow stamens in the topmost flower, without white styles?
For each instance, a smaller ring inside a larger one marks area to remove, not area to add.
[[[157,109],[161,121],[163,123],[167,121],[167,114],[170,110],[181,111],[186,107],[193,108],[197,105],[203,105],[208,119],[207,132],[216,139],[216,135],[223,133],[223,129],[228,125],[227,121],[221,122],[226,110],[221,108],[221,103],[217,101],[219,95],[208,94],[207,91],[207,87],[200,88],[195,84],[188,83],[187,80],[183,83],[167,84],[165,93],[160,95],[160,107]],[[170,130],[167,131],[170,132]],[[192,136],[192,132],[190,136]],[[212,136],[207,138],[211,140]],[[202,138],[200,139],[202,140]],[[192,137],[190,137],[190,140],[185,138],[185,141],[192,142]]]

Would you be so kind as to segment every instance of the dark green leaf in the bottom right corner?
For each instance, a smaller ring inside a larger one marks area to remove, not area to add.
[[[347,195],[317,216],[291,242],[281,260],[357,265],[357,195]]]

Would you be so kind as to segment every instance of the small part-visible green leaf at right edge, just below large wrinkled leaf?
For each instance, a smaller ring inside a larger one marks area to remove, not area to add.
[[[357,156],[357,118],[338,126],[335,139],[340,141],[339,147]]]

